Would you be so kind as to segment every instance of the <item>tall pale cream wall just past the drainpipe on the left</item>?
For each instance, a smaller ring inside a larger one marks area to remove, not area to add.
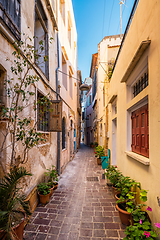
[[[60,12],[58,1],[58,28],[59,28],[59,56],[60,56],[60,71],[62,69],[62,54],[66,60],[66,81],[67,89],[63,85],[64,73],[58,73],[60,85],[60,95],[64,102],[62,105],[63,117],[66,119],[66,147],[61,151],[61,170],[63,171],[66,164],[73,158],[74,155],[74,128],[77,129],[79,124],[79,114],[77,112],[77,31],[72,7],[72,1],[66,0],[65,4],[65,20],[63,20]],[[68,39],[68,17],[71,22],[71,44]],[[70,70],[72,78],[69,77]],[[70,81],[72,81],[72,96],[70,95]],[[73,127],[71,129],[71,120]],[[76,131],[77,134],[77,131]]]

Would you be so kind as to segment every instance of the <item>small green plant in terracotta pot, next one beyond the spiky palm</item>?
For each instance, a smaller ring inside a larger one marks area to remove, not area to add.
[[[49,202],[49,196],[50,196],[50,186],[48,185],[48,183],[40,183],[37,185],[37,189],[38,189],[38,195],[40,198],[40,202],[42,204],[46,204]]]

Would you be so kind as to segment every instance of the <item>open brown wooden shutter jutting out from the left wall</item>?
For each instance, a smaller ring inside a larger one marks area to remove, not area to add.
[[[50,132],[62,132],[62,101],[53,100],[50,104]]]

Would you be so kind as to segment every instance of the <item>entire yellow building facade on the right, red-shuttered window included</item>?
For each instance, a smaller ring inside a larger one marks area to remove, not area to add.
[[[160,218],[160,2],[135,1],[110,81],[111,163],[148,190],[153,222]],[[143,16],[143,21],[142,21]]]

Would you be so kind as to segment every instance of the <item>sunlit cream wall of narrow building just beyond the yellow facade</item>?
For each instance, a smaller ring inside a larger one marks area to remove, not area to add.
[[[115,60],[119,46],[120,36],[107,36],[98,44],[98,81],[97,81],[97,119],[98,144],[107,147],[107,117],[106,107],[108,100],[108,62]]]

